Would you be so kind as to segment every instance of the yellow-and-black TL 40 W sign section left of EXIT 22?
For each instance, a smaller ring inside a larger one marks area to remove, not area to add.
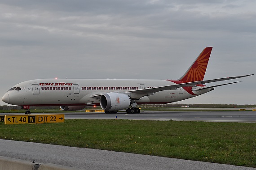
[[[5,115],[4,124],[35,124],[36,115]]]

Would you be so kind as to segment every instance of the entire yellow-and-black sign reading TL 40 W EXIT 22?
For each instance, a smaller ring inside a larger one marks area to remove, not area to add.
[[[62,123],[64,118],[64,114],[5,115],[4,124]]]

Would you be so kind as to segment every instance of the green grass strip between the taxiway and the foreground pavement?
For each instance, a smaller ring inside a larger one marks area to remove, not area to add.
[[[256,167],[256,124],[67,119],[0,123],[0,138]]]

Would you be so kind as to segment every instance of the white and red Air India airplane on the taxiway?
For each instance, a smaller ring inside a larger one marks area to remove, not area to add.
[[[22,106],[30,115],[30,106],[60,106],[61,110],[82,110],[85,106],[101,106],[105,113],[140,113],[141,104],[167,104],[193,98],[215,87],[206,83],[251,76],[233,76],[203,80],[212,47],[206,47],[178,80],[143,79],[37,79],[14,85],[2,101]]]

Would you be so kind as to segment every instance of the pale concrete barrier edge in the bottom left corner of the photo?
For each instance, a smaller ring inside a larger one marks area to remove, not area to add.
[[[33,163],[12,157],[0,156],[0,170],[80,170],[78,168],[50,164],[50,163]]]

